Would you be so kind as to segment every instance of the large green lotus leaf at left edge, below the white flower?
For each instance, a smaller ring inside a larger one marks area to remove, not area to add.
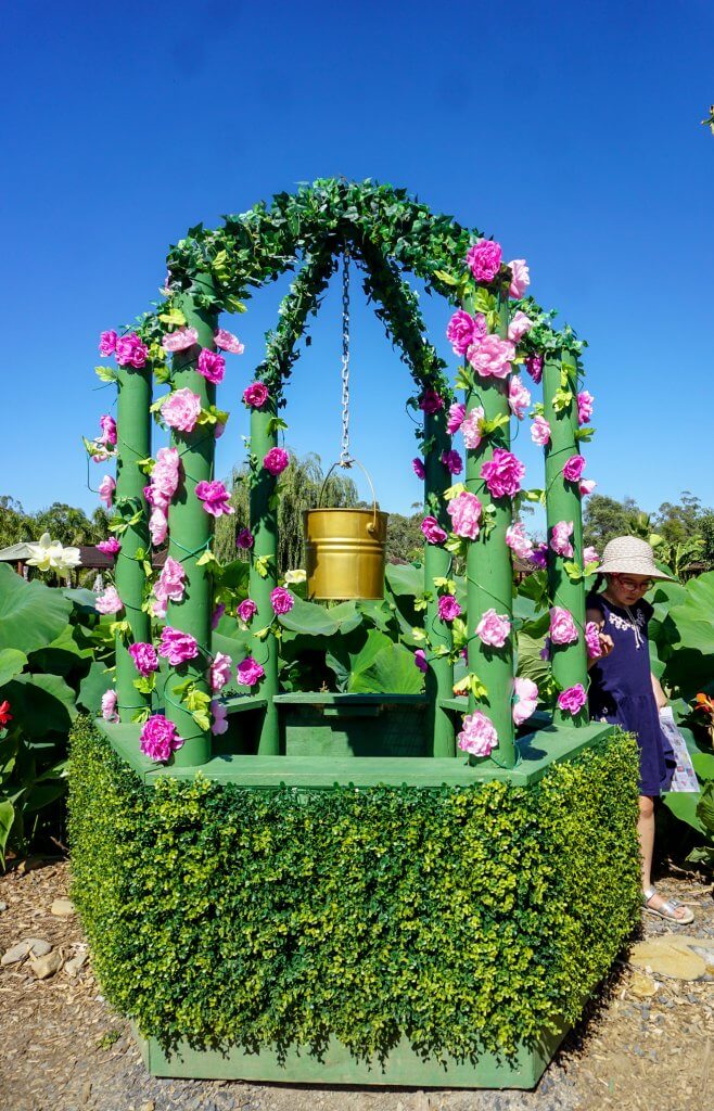
[[[26,580],[0,563],[0,649],[29,655],[56,640],[69,621],[72,603],[61,590]]]

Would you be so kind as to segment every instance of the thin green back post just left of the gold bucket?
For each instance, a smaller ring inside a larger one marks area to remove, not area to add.
[[[250,528],[254,537],[250,568],[250,597],[258,605],[258,613],[251,622],[255,630],[264,629],[273,620],[270,593],[278,585],[278,508],[274,501],[276,479],[263,467],[268,452],[278,446],[278,432],[271,424],[274,417],[272,404],[263,410],[251,411],[251,452],[258,457],[258,481],[250,491]],[[255,561],[261,560],[265,574],[259,574]],[[278,641],[272,633],[264,640],[251,638],[251,654],[263,667],[265,675],[260,693],[268,699],[265,717],[261,728],[258,752],[260,755],[280,753],[280,729],[278,705]]]

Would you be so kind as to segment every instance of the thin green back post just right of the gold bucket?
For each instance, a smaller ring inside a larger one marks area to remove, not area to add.
[[[446,414],[442,410],[424,414],[424,436],[426,457],[424,459],[424,501],[426,506],[436,500],[439,512],[436,520],[442,529],[449,531],[451,519],[442,494],[451,486],[451,476],[441,462],[442,452],[451,447],[451,438],[446,432]],[[432,497],[433,496],[433,497]],[[431,510],[429,510],[431,512]],[[447,578],[451,568],[451,556],[439,544],[424,544],[424,591],[431,594],[426,603],[426,634],[434,648],[443,644],[449,651],[452,647],[451,628],[439,617],[439,598],[434,579]],[[454,727],[451,715],[440,705],[442,699],[453,698],[454,669],[449,657],[435,657],[430,661],[426,672],[426,694],[429,698],[428,729],[432,737],[432,755],[455,755]]]

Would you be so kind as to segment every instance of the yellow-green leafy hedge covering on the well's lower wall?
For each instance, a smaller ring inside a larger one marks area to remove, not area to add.
[[[530,789],[144,787],[81,720],[73,899],[102,990],[164,1048],[510,1054],[579,1018],[637,921],[636,764],[620,734]]]

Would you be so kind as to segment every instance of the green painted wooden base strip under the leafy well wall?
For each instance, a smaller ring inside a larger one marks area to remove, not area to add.
[[[447,1058],[438,1061],[415,1053],[405,1039],[385,1061],[365,1061],[332,1039],[322,1057],[305,1048],[280,1058],[272,1049],[247,1053],[239,1047],[224,1052],[191,1049],[182,1043],[167,1054],[155,1038],[134,1037],[143,1062],[153,1077],[190,1077],[194,1080],[251,1080],[285,1084],[394,1084],[403,1088],[535,1088],[566,1034],[542,1037],[532,1048],[522,1045],[506,1060],[484,1053],[475,1061]]]

